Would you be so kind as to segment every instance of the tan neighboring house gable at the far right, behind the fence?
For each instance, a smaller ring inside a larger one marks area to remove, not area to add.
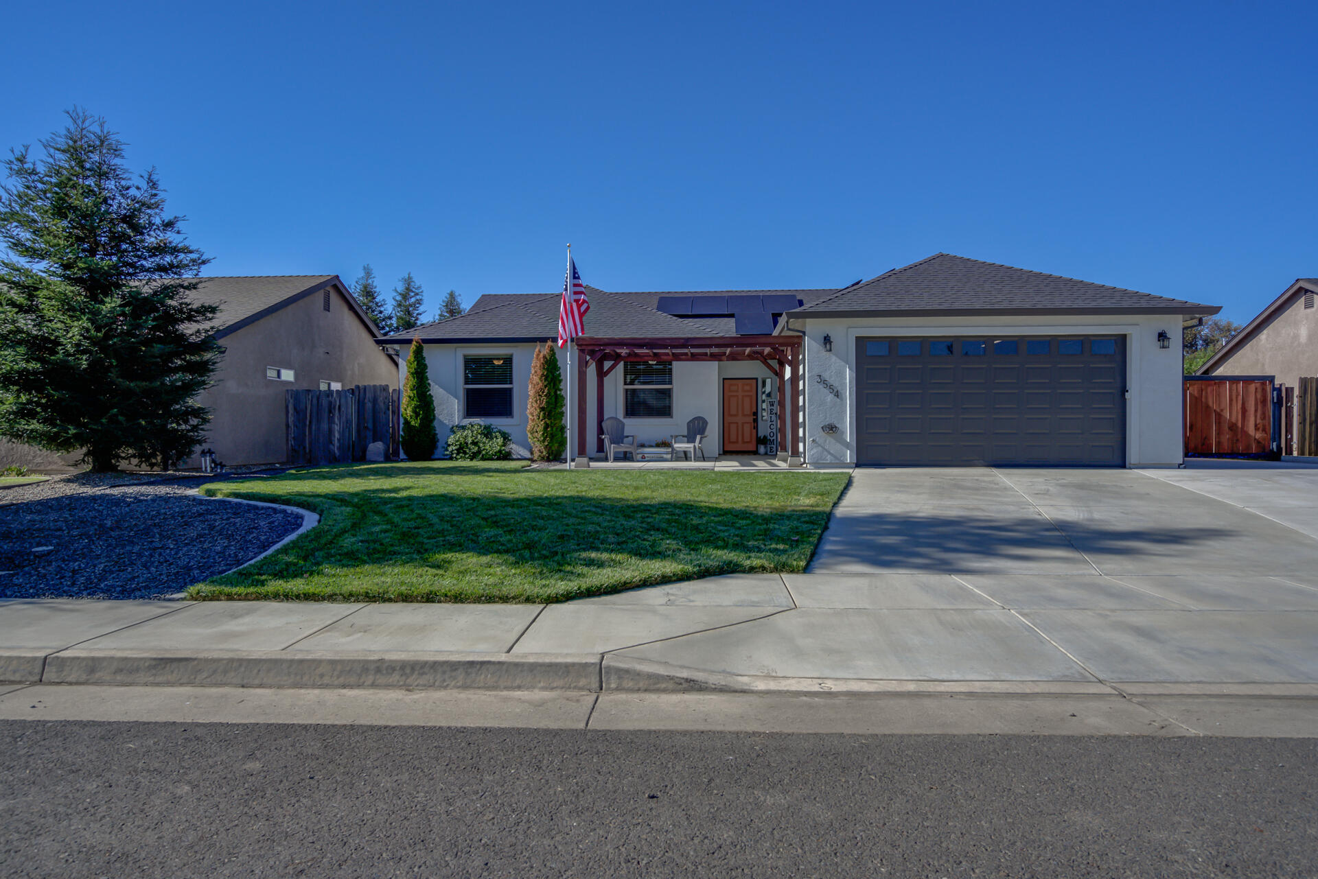
[[[1300,278],[1199,366],[1201,376],[1318,376],[1318,278]]]

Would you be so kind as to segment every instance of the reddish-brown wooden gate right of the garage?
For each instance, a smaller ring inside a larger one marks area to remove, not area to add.
[[[1186,376],[1186,455],[1269,455],[1271,376]]]

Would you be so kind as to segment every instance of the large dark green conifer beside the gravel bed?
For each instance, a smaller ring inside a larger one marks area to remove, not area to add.
[[[138,179],[105,120],[74,108],[63,132],[4,161],[0,186],[0,435],[83,449],[95,472],[169,468],[202,443],[219,347],[216,306],[194,302],[210,262]]]

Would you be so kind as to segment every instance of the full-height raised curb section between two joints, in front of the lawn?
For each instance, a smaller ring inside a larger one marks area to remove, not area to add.
[[[45,684],[418,687],[598,692],[596,654],[66,650]]]

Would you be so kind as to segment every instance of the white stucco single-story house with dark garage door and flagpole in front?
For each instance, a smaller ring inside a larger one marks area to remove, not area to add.
[[[588,289],[571,374],[577,457],[605,418],[642,444],[709,419],[706,448],[789,464],[1168,467],[1182,461],[1181,324],[1215,306],[948,253],[844,289]],[[426,324],[440,439],[465,422],[529,453],[526,390],[559,294],[481,297]],[[401,365],[401,369],[405,369]]]

